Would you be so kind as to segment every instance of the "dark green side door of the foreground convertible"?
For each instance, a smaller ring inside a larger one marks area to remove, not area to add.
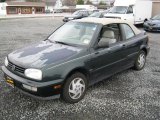
[[[114,31],[115,29],[119,29],[118,24],[111,24],[107,29],[102,29],[102,33],[104,31]],[[124,46],[120,40],[118,40],[118,37],[115,36],[116,42],[113,44],[110,44],[109,47],[104,48],[97,48],[91,50],[91,82],[95,83],[99,80],[102,80],[120,70],[123,70],[125,68],[125,59],[126,54],[124,54]],[[114,38],[114,39],[115,39]],[[121,35],[120,38],[121,39]]]

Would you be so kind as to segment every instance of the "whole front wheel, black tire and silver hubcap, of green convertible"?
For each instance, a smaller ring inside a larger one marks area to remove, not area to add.
[[[74,87],[73,87],[74,86]],[[74,73],[66,82],[62,91],[62,98],[68,103],[77,103],[83,99],[87,89],[87,79],[82,73]]]

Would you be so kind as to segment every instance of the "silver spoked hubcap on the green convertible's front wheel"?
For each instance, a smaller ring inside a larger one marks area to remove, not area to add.
[[[72,99],[78,99],[81,97],[85,90],[85,82],[82,78],[75,78],[69,85],[69,96]]]

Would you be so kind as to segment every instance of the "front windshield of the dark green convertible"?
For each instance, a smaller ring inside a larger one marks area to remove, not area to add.
[[[95,23],[68,22],[56,30],[48,39],[67,45],[89,45],[96,29]]]

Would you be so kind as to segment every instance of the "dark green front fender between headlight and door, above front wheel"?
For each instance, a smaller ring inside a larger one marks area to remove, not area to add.
[[[43,80],[50,81],[56,79],[65,79],[71,71],[77,68],[84,68],[87,70],[88,68],[86,68],[86,64],[89,62],[89,57],[90,55],[85,55],[83,57],[75,58],[73,60],[47,68],[43,70]]]

